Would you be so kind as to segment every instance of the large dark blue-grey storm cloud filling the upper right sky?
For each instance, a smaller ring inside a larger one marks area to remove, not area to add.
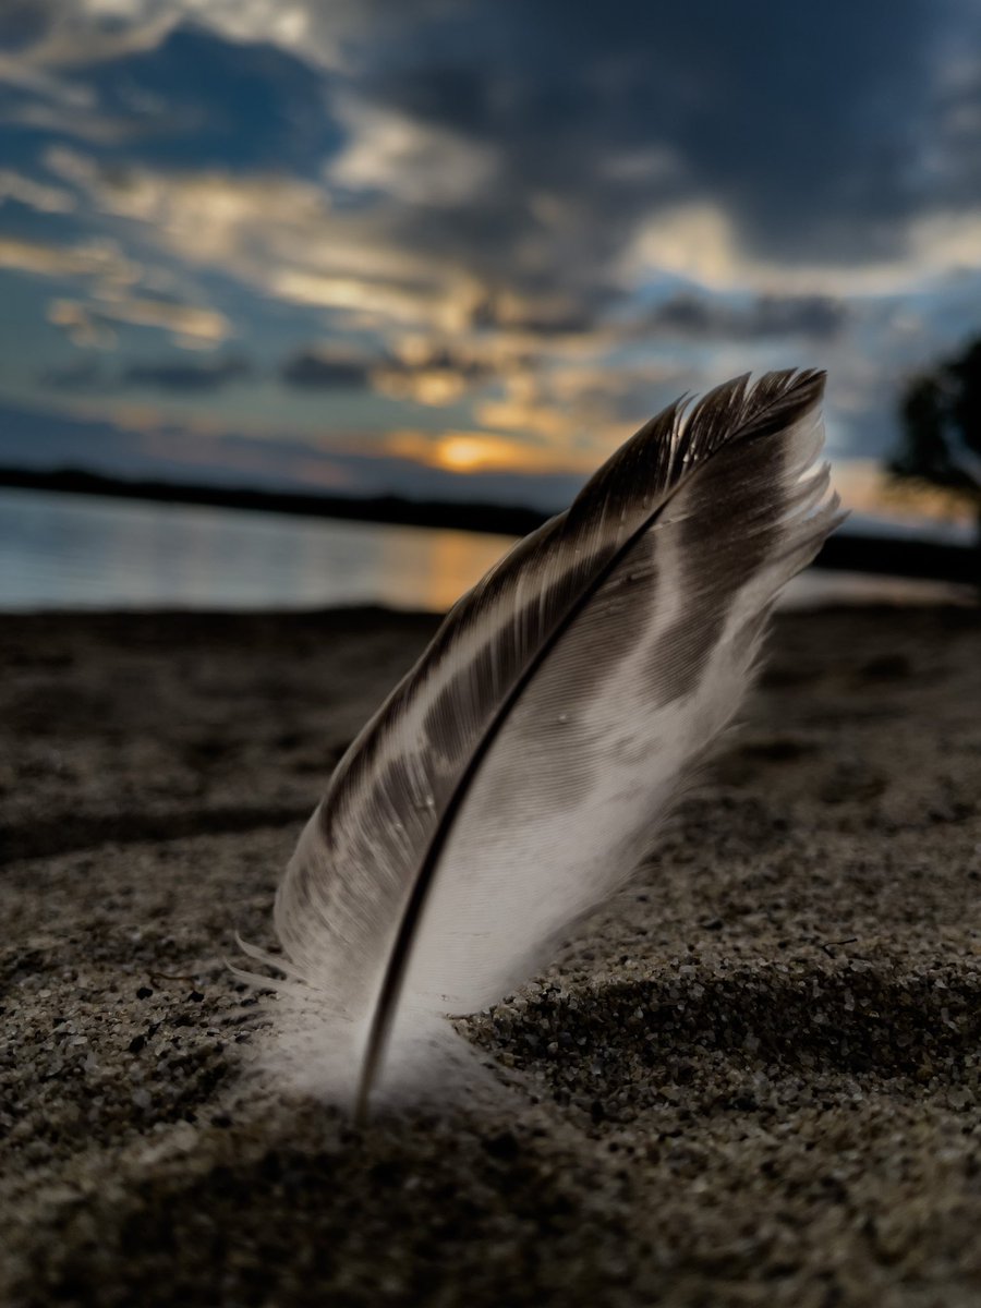
[[[379,42],[360,93],[498,149],[485,194],[407,222],[421,245],[466,249],[488,273],[509,259],[531,286],[555,284],[560,267],[573,285],[595,284],[587,251],[602,268],[641,215],[680,200],[718,204],[757,256],[810,263],[892,256],[910,216],[976,201],[954,157],[980,88],[955,94],[943,81],[967,5],[831,0],[818,14],[772,0],[543,0],[467,12],[476,35],[455,9],[404,50]],[[548,229],[534,192],[564,205],[538,267],[521,258]]]

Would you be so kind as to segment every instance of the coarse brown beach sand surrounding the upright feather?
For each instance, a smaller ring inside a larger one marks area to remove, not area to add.
[[[330,769],[434,628],[4,619],[4,1305],[981,1304],[981,620],[785,615],[702,789],[468,1023],[497,1104],[242,1076]]]

